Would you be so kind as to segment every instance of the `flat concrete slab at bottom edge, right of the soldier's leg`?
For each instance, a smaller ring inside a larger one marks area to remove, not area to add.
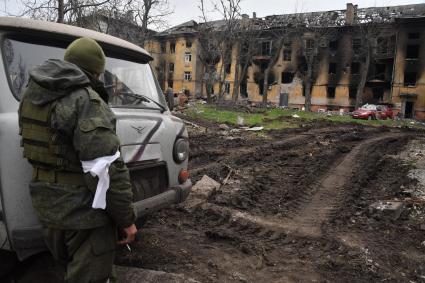
[[[116,266],[115,270],[117,272],[118,283],[199,283],[195,279],[176,273],[124,266]]]

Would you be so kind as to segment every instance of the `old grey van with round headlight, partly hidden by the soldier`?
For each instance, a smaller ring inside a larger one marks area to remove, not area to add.
[[[23,18],[0,17],[0,37],[0,249],[20,260],[46,249],[29,194],[32,168],[20,147],[18,106],[28,70],[46,59],[62,59],[79,37],[95,39],[107,57],[103,80],[130,171],[136,216],[186,199],[192,187],[188,134],[167,107],[148,52],[92,30]]]

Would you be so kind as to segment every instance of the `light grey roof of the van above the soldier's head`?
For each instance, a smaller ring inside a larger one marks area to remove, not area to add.
[[[38,21],[27,18],[0,17],[0,28],[18,30],[19,32],[27,30],[55,34],[60,37],[69,38],[70,41],[80,37],[89,37],[96,40],[101,45],[103,43],[105,45],[115,47],[115,49],[119,48],[121,50],[124,48],[127,51],[126,53],[128,53],[127,55],[142,57],[140,59],[144,59],[143,61],[151,61],[153,59],[145,49],[133,43],[101,32],[71,25]]]

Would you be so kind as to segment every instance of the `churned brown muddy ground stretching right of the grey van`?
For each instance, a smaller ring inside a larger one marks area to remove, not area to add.
[[[118,265],[199,282],[425,282],[425,189],[411,174],[425,156],[422,132],[192,122],[201,127],[188,126],[191,178],[220,189],[150,217]],[[378,201],[404,208],[371,209]]]

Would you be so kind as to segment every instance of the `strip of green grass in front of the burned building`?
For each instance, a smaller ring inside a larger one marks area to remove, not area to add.
[[[212,105],[196,104],[194,107],[186,110],[187,115],[197,119],[206,119],[217,123],[225,123],[236,125],[238,117],[244,120],[244,125],[252,126],[263,126],[266,130],[272,129],[286,129],[286,128],[297,128],[301,124],[312,122],[315,120],[324,120],[335,123],[358,123],[361,125],[369,126],[388,126],[388,127],[425,127],[421,124],[411,124],[409,121],[396,121],[396,120],[359,120],[353,119],[349,115],[327,115],[324,113],[314,113],[306,111],[298,111],[291,109],[266,109],[264,111],[258,111],[256,113],[245,113],[239,111],[223,110],[218,109]],[[293,116],[297,115],[298,118]]]

